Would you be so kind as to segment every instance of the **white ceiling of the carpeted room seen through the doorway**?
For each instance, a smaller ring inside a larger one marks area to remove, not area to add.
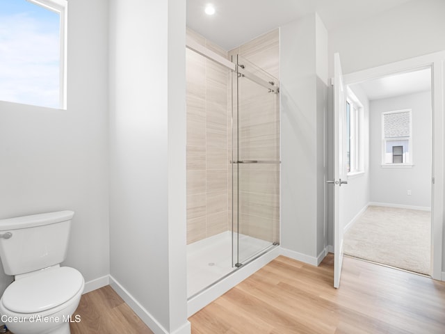
[[[357,85],[362,87],[370,101],[426,92],[431,90],[431,70],[428,67],[412,72],[392,74],[387,77],[365,81]]]

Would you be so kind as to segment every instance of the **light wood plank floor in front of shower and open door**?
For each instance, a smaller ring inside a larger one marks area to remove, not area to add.
[[[444,282],[345,257],[334,289],[333,261],[277,257],[190,317],[192,333],[445,333]]]

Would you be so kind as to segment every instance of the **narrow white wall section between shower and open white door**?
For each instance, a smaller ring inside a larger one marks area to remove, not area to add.
[[[325,246],[327,33],[312,14],[280,28],[281,246],[316,261]]]

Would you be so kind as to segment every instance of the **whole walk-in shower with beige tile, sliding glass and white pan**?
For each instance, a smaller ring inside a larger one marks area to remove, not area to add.
[[[280,239],[279,82],[203,50],[187,49],[188,298]]]

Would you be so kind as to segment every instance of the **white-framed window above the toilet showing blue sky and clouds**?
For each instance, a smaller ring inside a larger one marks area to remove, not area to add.
[[[66,0],[0,0],[0,100],[66,108]]]

